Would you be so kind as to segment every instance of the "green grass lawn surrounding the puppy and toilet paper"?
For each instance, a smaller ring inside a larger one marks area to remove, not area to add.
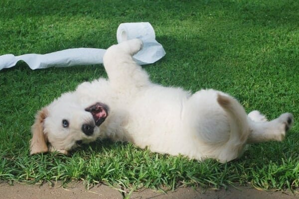
[[[108,48],[122,22],[149,21],[165,57],[144,66],[151,80],[195,92],[214,88],[269,119],[299,115],[299,1],[123,0],[0,1],[0,55]],[[30,126],[41,107],[83,81],[106,77],[102,65],[0,71],[0,180],[83,180],[125,189],[299,187],[299,124],[285,141],[256,144],[226,164],[202,163],[98,141],[73,153],[29,156]]]

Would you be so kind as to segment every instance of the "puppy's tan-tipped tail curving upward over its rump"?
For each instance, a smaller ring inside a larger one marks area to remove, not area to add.
[[[230,125],[230,138],[226,144],[243,146],[249,135],[247,114],[243,106],[234,98],[221,94],[218,94],[217,101],[225,110]]]

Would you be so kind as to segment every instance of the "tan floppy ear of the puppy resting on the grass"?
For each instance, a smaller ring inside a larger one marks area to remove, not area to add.
[[[30,140],[30,155],[48,151],[47,134],[44,133],[44,119],[48,115],[46,107],[42,108],[35,115],[35,122],[31,126],[32,139]]]

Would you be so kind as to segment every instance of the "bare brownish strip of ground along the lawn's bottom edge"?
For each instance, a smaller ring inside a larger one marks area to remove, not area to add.
[[[227,190],[202,190],[193,188],[177,188],[167,194],[143,189],[134,192],[131,199],[299,199],[299,192],[259,191],[252,187],[230,187]],[[47,184],[13,186],[0,183],[0,198],[3,199],[123,199],[122,194],[109,186],[97,185],[87,190],[83,183],[71,183],[66,188],[50,187]]]

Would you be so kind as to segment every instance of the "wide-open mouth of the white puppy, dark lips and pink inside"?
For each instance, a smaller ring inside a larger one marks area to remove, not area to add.
[[[86,111],[92,114],[97,126],[100,126],[105,121],[108,116],[108,109],[106,104],[100,102],[85,108]]]

